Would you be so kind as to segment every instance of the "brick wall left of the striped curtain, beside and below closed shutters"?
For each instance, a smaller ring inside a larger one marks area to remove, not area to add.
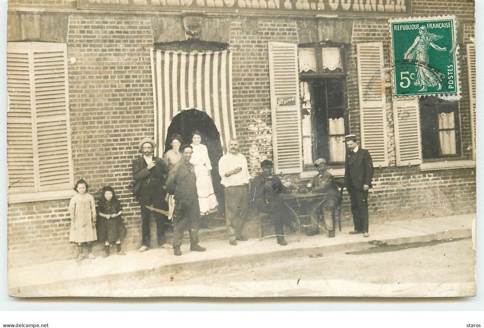
[[[152,44],[146,16],[69,17],[67,56],[76,58],[68,66],[75,181],[85,179],[95,199],[103,186],[115,188],[124,205],[127,248],[141,243],[139,205],[131,196],[131,163],[139,156],[139,140],[154,136]],[[32,254],[46,259],[73,256],[68,204],[69,200],[10,204],[10,260],[39,260],[30,258]],[[19,235],[21,227],[28,233]],[[45,254],[39,249],[57,251]]]

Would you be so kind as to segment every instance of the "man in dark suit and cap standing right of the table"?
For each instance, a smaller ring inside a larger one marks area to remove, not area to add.
[[[373,161],[366,149],[358,146],[356,135],[345,136],[348,147],[345,160],[345,185],[351,199],[354,231],[368,237],[368,189],[372,187]]]

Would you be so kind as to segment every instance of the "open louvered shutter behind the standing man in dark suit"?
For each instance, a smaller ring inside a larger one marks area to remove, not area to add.
[[[383,44],[356,45],[360,96],[361,144],[375,167],[388,166]]]

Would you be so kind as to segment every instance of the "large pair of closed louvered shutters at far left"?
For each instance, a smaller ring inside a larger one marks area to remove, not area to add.
[[[65,44],[7,44],[10,202],[72,194],[67,82]]]

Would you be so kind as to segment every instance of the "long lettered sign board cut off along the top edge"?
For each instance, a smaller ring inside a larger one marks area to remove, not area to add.
[[[78,0],[80,9],[408,15],[410,0]]]

